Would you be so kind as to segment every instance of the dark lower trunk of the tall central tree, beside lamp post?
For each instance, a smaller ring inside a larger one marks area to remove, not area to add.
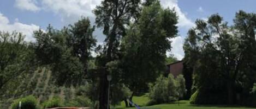
[[[104,68],[100,69],[100,83],[99,83],[99,109],[108,108],[108,80],[107,73]]]

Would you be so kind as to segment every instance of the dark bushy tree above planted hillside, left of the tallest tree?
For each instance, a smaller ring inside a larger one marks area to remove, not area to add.
[[[34,32],[35,54],[41,65],[51,65],[58,85],[78,85],[87,78],[91,50],[96,46],[88,18],[62,30],[49,26]]]

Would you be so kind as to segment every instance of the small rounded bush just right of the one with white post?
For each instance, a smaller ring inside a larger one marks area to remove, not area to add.
[[[62,106],[61,98],[53,97],[51,100],[44,101],[43,107],[44,108],[53,108],[53,107],[60,107]]]

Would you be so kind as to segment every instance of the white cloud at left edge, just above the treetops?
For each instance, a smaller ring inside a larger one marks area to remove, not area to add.
[[[16,20],[14,23],[10,23],[8,18],[0,12],[0,30],[1,31],[17,31],[26,35],[26,41],[34,41],[33,31],[38,30],[39,26],[35,24],[23,24]]]

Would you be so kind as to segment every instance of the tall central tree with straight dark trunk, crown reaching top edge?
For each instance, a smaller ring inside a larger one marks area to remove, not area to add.
[[[136,21],[140,0],[105,0],[93,10],[97,27],[106,35],[103,52],[98,57],[100,73],[99,108],[107,108],[108,81],[106,64],[119,58],[120,39],[126,34],[130,20]]]

